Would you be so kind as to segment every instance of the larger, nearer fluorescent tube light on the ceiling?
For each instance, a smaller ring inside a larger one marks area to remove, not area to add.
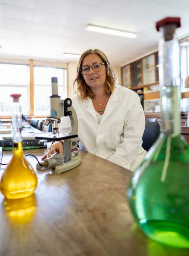
[[[94,31],[94,32],[99,32],[99,33],[104,33],[104,34],[110,34],[110,35],[118,35],[118,36],[123,36],[127,38],[136,38],[137,35],[132,32],[127,32],[123,30],[118,30],[118,29],[111,29],[111,28],[106,28],[106,27],[101,27],[101,26],[95,26],[95,25],[87,25],[86,30]]]

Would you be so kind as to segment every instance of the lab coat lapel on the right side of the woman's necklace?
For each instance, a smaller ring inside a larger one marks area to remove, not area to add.
[[[106,105],[106,109],[103,113],[103,117],[100,124],[103,123],[106,120],[106,118],[114,111],[117,104],[119,104],[119,101],[120,101],[120,90],[119,90],[119,87],[116,86]]]

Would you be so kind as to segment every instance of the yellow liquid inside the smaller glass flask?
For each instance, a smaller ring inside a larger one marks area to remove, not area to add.
[[[22,142],[14,143],[13,157],[0,180],[0,191],[8,199],[25,198],[34,193],[37,176],[23,157]]]

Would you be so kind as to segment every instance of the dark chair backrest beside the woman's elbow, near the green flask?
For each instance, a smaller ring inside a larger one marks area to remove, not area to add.
[[[158,122],[146,122],[142,147],[149,151],[160,135],[160,124]]]

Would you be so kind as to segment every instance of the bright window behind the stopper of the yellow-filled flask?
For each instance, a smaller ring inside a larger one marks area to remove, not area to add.
[[[21,94],[23,114],[29,114],[29,66],[0,63],[0,115],[12,114],[11,93]]]

